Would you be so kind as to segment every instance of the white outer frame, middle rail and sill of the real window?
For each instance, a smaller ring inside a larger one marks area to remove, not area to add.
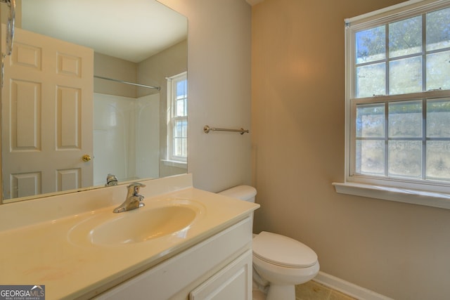
[[[450,209],[450,183],[419,183],[398,178],[360,176],[354,174],[354,164],[352,162],[352,157],[354,157],[352,143],[355,141],[353,118],[356,115],[356,104],[364,103],[364,101],[371,103],[374,100],[372,97],[356,100],[354,98],[356,82],[354,32],[361,30],[361,28],[385,25],[395,20],[418,15],[424,11],[434,11],[449,6],[449,2],[449,0],[410,0],[345,20],[345,182],[333,183],[338,193]],[[401,100],[441,97],[450,97],[450,91],[427,91],[417,94],[380,96],[377,97],[377,100],[383,102],[387,98],[390,100]]]

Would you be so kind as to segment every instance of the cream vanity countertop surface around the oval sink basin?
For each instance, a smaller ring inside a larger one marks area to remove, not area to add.
[[[124,189],[124,186],[120,188]],[[141,194],[146,195],[143,190]],[[80,223],[113,214],[117,203],[25,226],[0,227],[3,246],[0,250],[0,285],[45,285],[47,300],[88,299],[219,233],[259,207],[255,203],[196,188],[179,187],[169,193],[147,196],[143,201],[145,207],[120,214],[131,216],[165,202],[185,200],[200,207],[200,214],[191,226],[179,234],[145,242],[104,245],[87,240],[80,242],[74,237]]]

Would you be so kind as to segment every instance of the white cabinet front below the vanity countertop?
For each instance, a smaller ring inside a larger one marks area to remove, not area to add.
[[[252,299],[252,215],[96,299]]]

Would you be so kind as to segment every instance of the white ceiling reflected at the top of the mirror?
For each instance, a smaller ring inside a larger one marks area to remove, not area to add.
[[[187,19],[153,0],[22,0],[22,27],[134,63],[187,37]]]

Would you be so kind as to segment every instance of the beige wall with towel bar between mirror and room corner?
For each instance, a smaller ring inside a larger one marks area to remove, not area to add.
[[[217,192],[250,184],[251,7],[244,0],[160,0],[188,17],[188,172]]]

